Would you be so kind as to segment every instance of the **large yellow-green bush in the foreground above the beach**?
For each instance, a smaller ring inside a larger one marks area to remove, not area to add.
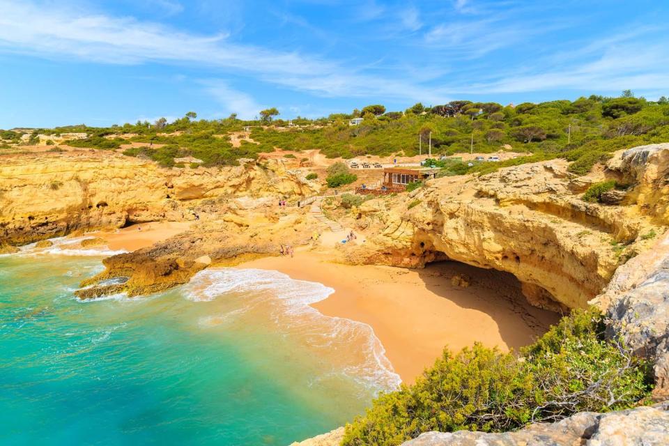
[[[582,410],[634,406],[651,390],[649,363],[606,340],[594,309],[562,318],[522,359],[475,344],[445,350],[414,385],[382,394],[353,424],[344,445],[399,445],[425,431],[509,431]]]

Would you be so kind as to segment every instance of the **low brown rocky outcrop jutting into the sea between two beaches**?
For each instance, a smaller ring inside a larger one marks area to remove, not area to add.
[[[237,210],[224,220],[203,223],[195,231],[179,234],[126,254],[103,260],[105,271],[82,283],[80,299],[127,293],[144,295],[185,284],[210,265],[231,265],[254,256],[279,254],[279,244],[309,243],[317,222],[307,212],[288,215],[259,210]]]

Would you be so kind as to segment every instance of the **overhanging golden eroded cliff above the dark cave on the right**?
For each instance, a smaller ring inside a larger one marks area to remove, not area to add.
[[[621,151],[586,177],[553,160],[439,178],[408,197],[367,201],[353,224],[368,243],[346,249],[347,259],[419,267],[461,261],[511,272],[541,307],[585,307],[618,266],[654,243],[647,234],[662,233],[668,222],[661,187],[669,145],[639,155],[646,150]],[[616,191],[615,204],[583,201],[589,185],[608,179],[631,187]]]

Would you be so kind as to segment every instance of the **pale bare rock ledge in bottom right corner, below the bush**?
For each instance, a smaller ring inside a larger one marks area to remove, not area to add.
[[[516,432],[426,432],[403,446],[661,446],[669,444],[664,406],[613,413],[577,413],[553,424],[532,424]]]

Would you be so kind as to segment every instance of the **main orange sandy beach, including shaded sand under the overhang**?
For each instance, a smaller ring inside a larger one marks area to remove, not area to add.
[[[529,305],[509,274],[456,262],[424,270],[329,263],[324,254],[267,257],[238,268],[278,270],[293,279],[335,290],[314,307],[325,315],[371,325],[395,371],[413,383],[448,346],[452,351],[480,341],[507,351],[530,344],[559,315]],[[451,284],[455,274],[471,285]]]

